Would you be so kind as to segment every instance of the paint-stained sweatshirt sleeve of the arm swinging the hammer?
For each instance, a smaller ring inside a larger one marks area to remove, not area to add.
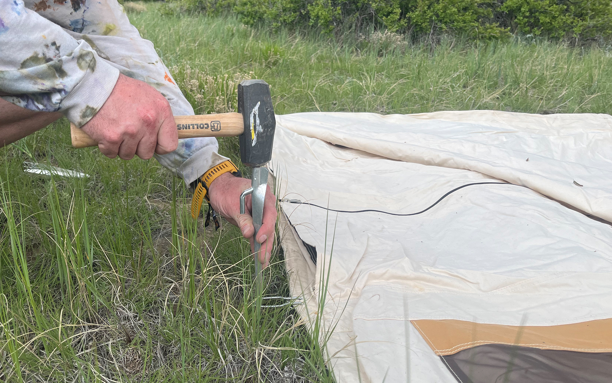
[[[0,97],[33,111],[60,111],[81,127],[113,91],[119,70],[85,40],[0,0]]]

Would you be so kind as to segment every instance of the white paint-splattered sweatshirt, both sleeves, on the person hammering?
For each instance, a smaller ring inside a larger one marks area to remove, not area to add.
[[[102,107],[119,73],[155,87],[175,115],[192,106],[117,0],[0,0],[0,97],[61,111],[78,127]],[[227,158],[215,138],[179,139],[155,158],[190,184]]]

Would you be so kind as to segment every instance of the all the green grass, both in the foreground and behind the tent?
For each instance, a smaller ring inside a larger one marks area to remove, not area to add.
[[[271,84],[279,114],[607,113],[612,102],[602,48],[378,34],[332,42],[147,7],[130,18],[198,113],[233,110],[236,84],[250,76]],[[155,160],[110,160],[69,140],[59,121],[0,155],[0,381],[331,381],[295,311],[258,318],[237,229],[193,222],[190,193]],[[220,151],[239,160],[236,139]],[[24,174],[32,159],[91,177]],[[266,294],[288,296],[286,278],[277,251]]]

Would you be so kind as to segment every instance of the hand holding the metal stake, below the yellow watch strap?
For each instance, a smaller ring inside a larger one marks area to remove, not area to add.
[[[208,188],[208,193],[211,199],[212,208],[232,225],[240,228],[242,236],[250,239],[251,251],[253,252],[255,251],[253,245],[253,233],[255,232],[255,228],[253,227],[253,218],[250,215],[251,196],[247,196],[246,198],[249,214],[240,214],[240,195],[244,190],[250,187],[250,180],[234,177],[230,173],[224,173],[212,181],[211,187]],[[261,262],[263,267],[267,267],[270,261],[270,253],[272,251],[272,245],[274,244],[276,217],[276,197],[270,191],[270,187],[267,187],[263,221],[257,233],[257,238],[255,239],[261,244],[259,262]]]

